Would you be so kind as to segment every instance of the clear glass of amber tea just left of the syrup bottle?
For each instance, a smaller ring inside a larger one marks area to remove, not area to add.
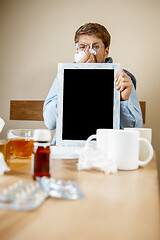
[[[32,129],[10,129],[7,139],[7,158],[31,158],[33,152]]]

